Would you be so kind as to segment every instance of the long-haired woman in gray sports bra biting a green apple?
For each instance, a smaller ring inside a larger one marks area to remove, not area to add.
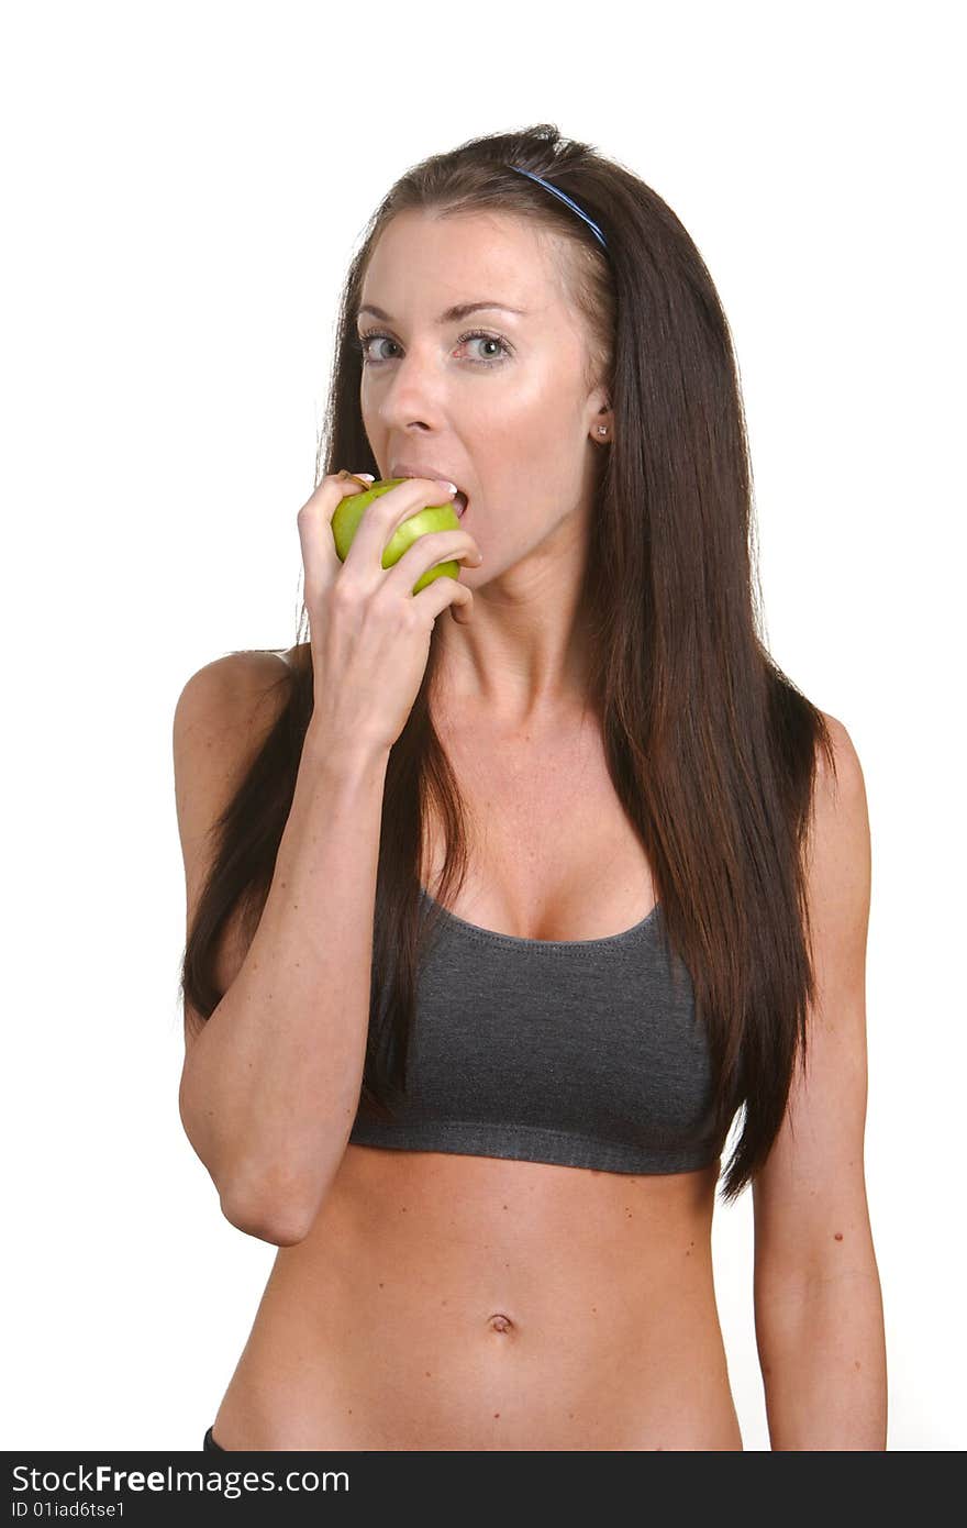
[[[553,127],[437,156],[353,261],[328,426],[309,640],[174,723],[182,1120],[280,1248],[205,1447],[741,1449],[741,1109],[771,1444],[883,1449],[863,776],[758,636],[695,246]]]

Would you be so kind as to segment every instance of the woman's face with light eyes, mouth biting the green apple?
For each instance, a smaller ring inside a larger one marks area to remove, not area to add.
[[[446,477],[469,498],[484,561],[461,581],[486,584],[584,527],[605,396],[585,387],[559,238],[507,214],[400,212],[373,249],[357,333],[379,477]]]

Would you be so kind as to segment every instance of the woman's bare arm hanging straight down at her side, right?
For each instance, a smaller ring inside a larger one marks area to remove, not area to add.
[[[753,1180],[755,1322],[773,1450],[886,1449],[886,1340],[863,1170],[871,845],[863,772],[833,724],[810,868],[808,1068]]]

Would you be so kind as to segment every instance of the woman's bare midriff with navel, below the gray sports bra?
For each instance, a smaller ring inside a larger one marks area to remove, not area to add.
[[[715,1163],[636,1175],[348,1146],[281,1247],[223,1449],[741,1449]]]

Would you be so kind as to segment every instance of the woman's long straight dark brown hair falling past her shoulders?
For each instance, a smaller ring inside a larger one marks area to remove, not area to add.
[[[567,191],[602,228],[606,251],[509,165]],[[354,310],[376,240],[409,208],[437,217],[506,211],[565,241],[564,275],[591,336],[588,385],[602,380],[614,417],[614,439],[597,452],[584,571],[588,703],[649,859],[666,949],[692,976],[723,1144],[742,1109],[720,1180],[729,1203],[765,1161],[793,1070],[805,1062],[814,1001],[805,863],[819,747],[836,772],[823,714],[761,637],[752,465],[729,324],[692,238],[629,170],[553,124],[472,139],[403,174],[370,220],[342,293],[316,481],[342,466],[379,475],[359,408]],[[182,966],[182,990],[203,1018],[222,998],[214,966],[228,918],[238,906],[251,940],[272,883],[313,709],[307,640],[302,605],[284,707],[215,824]],[[438,918],[420,903],[428,805],[445,830],[438,903],[451,902],[467,863],[460,792],[429,707],[437,652],[431,640],[385,776],[361,1094],[361,1108],[382,1118],[405,1086],[416,978]]]

